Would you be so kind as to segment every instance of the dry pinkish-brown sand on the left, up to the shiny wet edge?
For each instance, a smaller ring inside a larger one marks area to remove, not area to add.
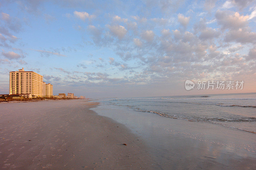
[[[143,140],[89,110],[96,105],[85,100],[0,103],[0,169],[160,168]]]

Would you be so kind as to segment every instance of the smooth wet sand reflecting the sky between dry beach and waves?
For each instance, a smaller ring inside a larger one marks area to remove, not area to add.
[[[170,119],[101,105],[100,115],[125,124],[151,148],[163,168],[256,167],[256,134],[203,122]]]

